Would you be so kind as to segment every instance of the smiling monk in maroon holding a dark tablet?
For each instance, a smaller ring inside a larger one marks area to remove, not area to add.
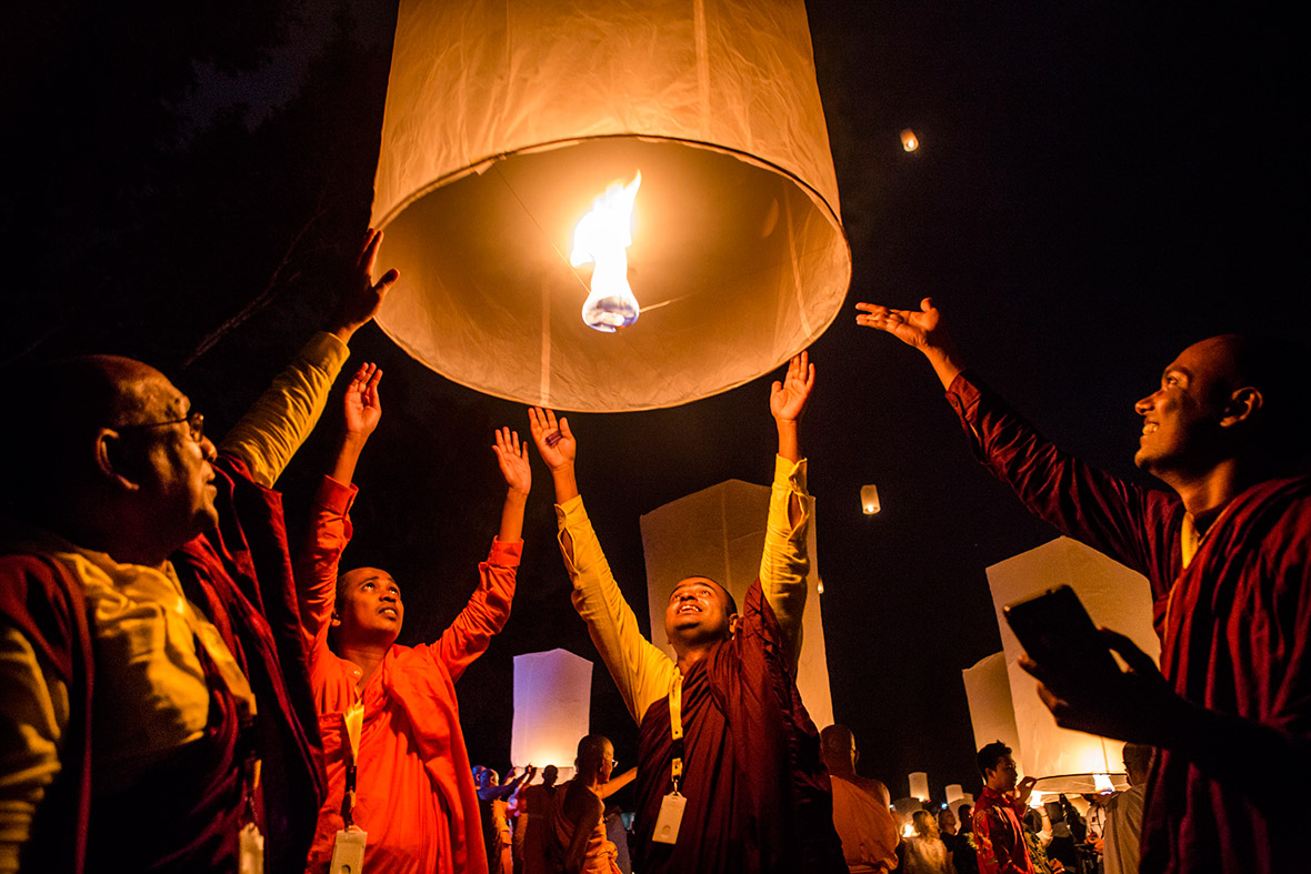
[[[1213,337],[1138,401],[1135,463],[1169,490],[1062,453],[962,371],[920,311],[857,304],[933,366],[975,453],[1036,516],[1151,582],[1162,666],[1103,632],[1125,672],[1027,662],[1057,722],[1160,748],[1147,784],[1142,871],[1311,870],[1287,786],[1311,778],[1311,478],[1293,370],[1270,346]],[[1298,446],[1301,443],[1301,446]]]

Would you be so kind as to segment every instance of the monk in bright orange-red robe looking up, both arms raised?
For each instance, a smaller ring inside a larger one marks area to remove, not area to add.
[[[396,638],[405,605],[391,574],[376,567],[337,574],[351,535],[355,461],[382,418],[380,379],[382,371],[366,364],[346,390],[341,449],[319,489],[308,548],[296,570],[328,768],[328,799],[319,811],[308,870],[328,869],[343,815],[350,815],[368,833],[364,870],[485,874],[455,681],[510,616],[531,485],[527,447],[509,428],[496,435],[493,451],[507,486],[505,507],[468,605],[434,643],[401,646]],[[336,632],[334,649],[329,632]],[[350,722],[359,726],[358,756]],[[357,765],[353,810],[346,797],[351,761]]]

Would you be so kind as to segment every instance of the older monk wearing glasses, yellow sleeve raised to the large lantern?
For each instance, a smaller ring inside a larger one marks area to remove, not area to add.
[[[303,870],[323,763],[281,495],[395,271],[355,282],[218,449],[163,373],[33,368],[3,434],[0,866]]]

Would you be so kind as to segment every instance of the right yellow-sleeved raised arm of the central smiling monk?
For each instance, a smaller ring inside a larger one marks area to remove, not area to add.
[[[810,557],[806,554],[806,465],[801,457],[798,425],[814,384],[814,364],[808,352],[801,352],[788,362],[784,379],[770,388],[770,413],[779,431],[779,457],[773,465],[770,518],[760,556],[760,587],[779,620],[793,668],[801,655],[801,616],[806,605],[806,577],[810,574]]]

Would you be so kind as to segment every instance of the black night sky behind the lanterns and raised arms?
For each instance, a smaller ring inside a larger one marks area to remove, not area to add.
[[[354,259],[395,8],[104,5],[49,4],[5,28],[0,354],[142,358],[222,432],[321,326]],[[812,347],[802,423],[834,712],[894,797],[911,770],[935,795],[977,793],[960,671],[1000,649],[985,567],[1054,535],[977,465],[919,355],[857,329],[851,304],[933,296],[970,366],[1040,428],[1138,476],[1133,402],[1183,346],[1228,330],[1306,345],[1306,55],[1291,21],[1252,4],[808,7],[855,261],[848,305]],[[918,152],[902,151],[903,127]],[[385,377],[347,562],[391,570],[402,642],[431,639],[497,527],[492,430],[526,434],[526,411],[372,326],[351,360]],[[642,621],[638,516],[722,480],[768,482],[770,379],[678,409],[570,417],[581,490]],[[281,482],[296,528],[337,397]],[[7,427],[21,421],[10,406]],[[595,658],[534,461],[514,613],[459,684],[471,757],[498,768],[511,658]],[[874,518],[859,506],[869,482]],[[591,719],[636,759],[599,664]]]

